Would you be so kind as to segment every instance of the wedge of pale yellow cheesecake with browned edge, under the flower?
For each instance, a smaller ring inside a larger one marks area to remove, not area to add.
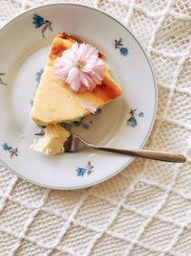
[[[53,39],[49,58],[32,105],[31,118],[38,126],[79,120],[90,114],[90,110],[81,105],[82,101],[91,102],[99,108],[122,94],[106,66],[102,83],[93,91],[77,93],[70,89],[69,84],[57,79],[53,67],[55,58],[60,57],[63,51],[70,49],[74,42],[76,40],[66,34],[58,34]],[[103,55],[99,54],[99,58],[103,58]]]

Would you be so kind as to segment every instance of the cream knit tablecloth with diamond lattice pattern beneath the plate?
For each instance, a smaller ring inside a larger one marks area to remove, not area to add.
[[[45,0],[0,0],[0,26]],[[158,117],[148,148],[184,164],[136,159],[80,191],[28,183],[0,166],[0,255],[191,255],[191,1],[81,0],[122,21],[154,66]]]

